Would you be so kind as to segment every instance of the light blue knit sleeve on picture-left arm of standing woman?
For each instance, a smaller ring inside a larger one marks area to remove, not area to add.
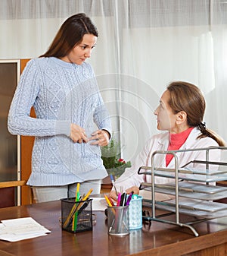
[[[15,135],[51,136],[70,134],[70,122],[65,120],[36,119],[30,109],[39,95],[42,75],[36,59],[27,63],[14,93],[8,114],[8,131]],[[43,106],[45,107],[45,106]]]

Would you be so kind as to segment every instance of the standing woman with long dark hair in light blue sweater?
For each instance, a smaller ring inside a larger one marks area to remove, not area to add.
[[[86,14],[67,18],[48,51],[27,63],[14,93],[8,130],[35,136],[27,185],[36,202],[75,197],[77,182],[80,194],[97,194],[107,176],[99,146],[109,142],[110,119],[85,62],[97,37]]]

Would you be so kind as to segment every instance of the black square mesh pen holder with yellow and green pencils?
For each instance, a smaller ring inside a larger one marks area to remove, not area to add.
[[[92,230],[92,199],[61,199],[61,227],[73,233]]]

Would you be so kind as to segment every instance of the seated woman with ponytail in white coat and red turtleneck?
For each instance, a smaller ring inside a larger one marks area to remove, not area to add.
[[[157,129],[166,131],[155,134],[145,144],[135,158],[132,167],[126,169],[115,182],[117,191],[138,194],[141,182],[151,182],[151,175],[138,175],[141,166],[151,166],[151,154],[156,150],[186,150],[204,147],[225,146],[225,142],[215,132],[206,128],[203,122],[205,111],[204,96],[194,84],[176,81],[166,88],[160,98],[160,104],[154,111],[157,115]],[[206,151],[178,152],[179,167],[192,160],[206,160]],[[220,150],[212,150],[210,161],[220,160]],[[155,167],[175,168],[173,154],[157,154]],[[195,166],[193,166],[195,167]],[[156,183],[173,182],[173,179],[155,177]],[[112,189],[110,198],[117,200]]]

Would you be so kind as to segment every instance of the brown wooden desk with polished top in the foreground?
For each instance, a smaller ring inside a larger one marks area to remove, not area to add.
[[[59,223],[61,201],[30,204],[0,209],[0,220],[32,216],[51,230],[36,239],[20,242],[0,241],[0,255],[75,256],[75,255],[225,255],[227,251],[227,218],[194,225],[200,234],[195,237],[190,229],[152,222],[151,227],[130,232],[125,237],[107,235],[104,212],[94,212],[97,222],[93,231],[73,235],[62,231]],[[171,218],[173,216],[169,216]]]

